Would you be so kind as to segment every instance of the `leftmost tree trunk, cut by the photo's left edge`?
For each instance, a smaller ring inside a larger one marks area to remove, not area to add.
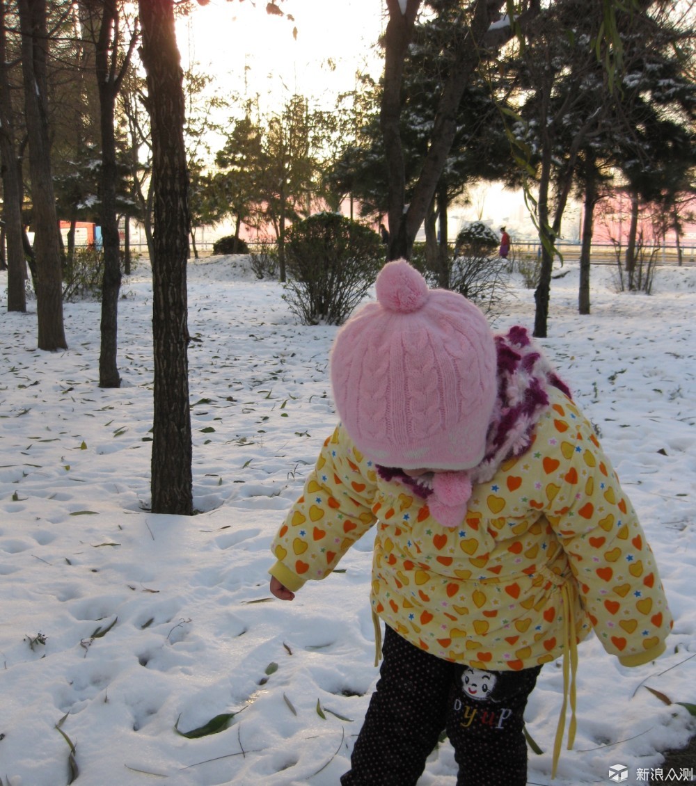
[[[7,310],[26,311],[27,263],[22,242],[22,186],[17,167],[12,98],[7,74],[5,0],[0,0],[0,158],[2,158],[2,220],[7,244]]]

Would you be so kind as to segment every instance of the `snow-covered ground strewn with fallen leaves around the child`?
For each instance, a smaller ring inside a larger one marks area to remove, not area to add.
[[[628,784],[651,770],[667,780],[659,751],[687,742],[681,703],[696,703],[696,268],[660,270],[653,296],[617,294],[613,271],[593,270],[591,317],[576,313],[577,270],[565,270],[543,345],[601,431],[676,626],[665,655],[635,670],[596,639],[580,645],[576,744],[554,783],[609,783],[616,765]],[[266,573],[271,537],[333,428],[336,329],[298,325],[282,286],[256,281],[243,257],[190,263],[200,512],[157,516],[149,269],[123,282],[119,390],[98,387],[98,303],[65,305],[68,351],[36,351],[35,303],[6,313],[5,275],[0,783],[337,784],[377,679],[370,538],[293,604],[272,599]],[[531,327],[533,303],[515,287],[496,329]],[[530,751],[530,784],[551,784],[561,700],[561,670],[547,665],[528,705],[543,750]],[[213,719],[222,730],[205,734]],[[448,743],[420,783],[454,786]]]

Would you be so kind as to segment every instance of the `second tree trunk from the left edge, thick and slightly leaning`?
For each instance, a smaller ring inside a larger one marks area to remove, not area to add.
[[[29,139],[36,258],[39,349],[67,349],[63,324],[61,248],[51,174],[46,103],[46,0],[18,0],[22,32],[24,108]]]

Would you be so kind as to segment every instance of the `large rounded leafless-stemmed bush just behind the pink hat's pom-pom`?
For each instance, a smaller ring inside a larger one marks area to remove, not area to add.
[[[318,213],[290,228],[285,299],[305,325],[341,325],[385,262],[377,232],[337,213]]]

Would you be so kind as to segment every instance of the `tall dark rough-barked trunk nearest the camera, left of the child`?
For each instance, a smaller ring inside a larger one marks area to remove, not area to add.
[[[193,512],[186,259],[190,227],[182,69],[173,0],[139,0],[153,138],[152,509]]]

